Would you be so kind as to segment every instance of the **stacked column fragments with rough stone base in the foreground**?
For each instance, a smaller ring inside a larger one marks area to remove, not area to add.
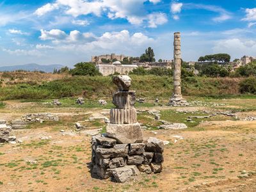
[[[129,90],[131,78],[114,76],[113,83],[118,86],[113,95],[116,108],[111,109],[106,134],[92,138],[92,175],[125,182],[140,172],[161,172],[164,143],[143,138],[134,108],[135,92]]]

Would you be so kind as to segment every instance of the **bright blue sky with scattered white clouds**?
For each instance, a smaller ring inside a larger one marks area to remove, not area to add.
[[[173,33],[182,59],[228,53],[256,56],[256,0],[0,1],[0,66],[38,63],[72,67],[93,55],[172,60]]]

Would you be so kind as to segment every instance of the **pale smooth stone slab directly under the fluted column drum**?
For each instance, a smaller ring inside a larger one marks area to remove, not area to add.
[[[106,135],[117,143],[140,143],[143,134],[139,123],[136,124],[108,124]]]

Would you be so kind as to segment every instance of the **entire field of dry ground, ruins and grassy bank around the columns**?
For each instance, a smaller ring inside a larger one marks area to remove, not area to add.
[[[143,136],[164,141],[163,170],[118,183],[90,172],[92,136],[114,107],[111,77],[31,74],[1,74],[1,125],[16,140],[0,145],[0,191],[256,190],[256,97],[239,92],[243,78],[182,79],[189,106],[173,107],[172,77],[131,76]]]

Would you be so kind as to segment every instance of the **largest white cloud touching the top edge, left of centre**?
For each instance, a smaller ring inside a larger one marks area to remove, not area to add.
[[[131,24],[142,24],[145,20],[148,21],[150,15],[144,7],[146,1],[156,4],[161,0],[56,0],[55,3],[48,3],[38,8],[35,14],[42,16],[56,9],[72,17],[88,14],[100,17],[102,13],[107,13],[109,19],[127,19]],[[74,21],[74,23],[88,24],[81,20]]]

